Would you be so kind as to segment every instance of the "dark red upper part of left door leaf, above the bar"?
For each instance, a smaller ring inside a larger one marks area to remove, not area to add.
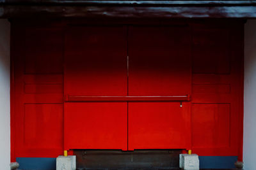
[[[65,95],[127,95],[126,27],[71,27],[65,40]]]

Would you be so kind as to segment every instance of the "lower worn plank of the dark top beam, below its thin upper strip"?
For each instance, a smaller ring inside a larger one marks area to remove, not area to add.
[[[256,6],[0,5],[0,18],[256,18]],[[142,15],[143,14],[143,15]]]

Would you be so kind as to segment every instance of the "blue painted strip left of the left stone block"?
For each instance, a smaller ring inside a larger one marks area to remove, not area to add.
[[[55,170],[56,158],[17,157],[16,161],[22,170]]]

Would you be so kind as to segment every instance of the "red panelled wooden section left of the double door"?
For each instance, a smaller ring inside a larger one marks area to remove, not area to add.
[[[12,49],[12,161],[56,157],[63,153],[63,31],[15,27]]]

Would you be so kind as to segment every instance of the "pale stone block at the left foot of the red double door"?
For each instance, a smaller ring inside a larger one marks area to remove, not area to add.
[[[76,170],[76,156],[58,156],[56,170]]]

